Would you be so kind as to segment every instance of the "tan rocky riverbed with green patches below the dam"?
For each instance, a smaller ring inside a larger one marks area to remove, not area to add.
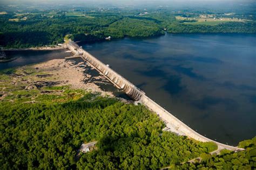
[[[105,77],[90,75],[88,71],[90,69],[92,68],[85,62],[55,59],[36,65],[3,70],[0,73],[0,101],[12,102],[26,98],[25,102],[39,102],[39,98],[38,100],[36,98],[44,94],[63,96],[62,87],[114,97],[110,91],[104,91],[97,85],[109,83]],[[52,87],[54,90],[51,89]]]

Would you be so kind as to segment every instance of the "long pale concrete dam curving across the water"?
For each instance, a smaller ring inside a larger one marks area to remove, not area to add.
[[[72,53],[77,56],[81,57],[90,66],[98,70],[98,72],[106,77],[110,82],[114,84],[119,89],[122,89],[127,95],[133,98],[134,101],[138,101],[144,104],[147,108],[151,109],[152,111],[156,112],[156,114],[163,119],[166,123],[166,129],[177,133],[179,135],[184,135],[189,138],[193,138],[199,141],[213,141],[218,145],[218,150],[215,152],[219,152],[222,149],[232,150],[232,151],[241,151],[244,150],[243,148],[229,146],[225,144],[218,143],[217,141],[211,140],[202,136],[201,134],[197,133],[196,131],[192,130],[189,126],[185,123],[181,122],[178,118],[173,116],[170,112],[162,108],[159,104],[151,100],[149,97],[146,96],[144,91],[140,90],[134,84],[126,80],[123,76],[116,73],[114,70],[109,68],[103,62],[99,61],[95,56],[92,56],[90,53],[86,52],[82,47],[79,47],[75,42],[69,40],[65,45],[66,48],[69,48]]]

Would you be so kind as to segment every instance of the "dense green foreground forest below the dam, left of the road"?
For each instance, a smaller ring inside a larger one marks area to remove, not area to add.
[[[163,122],[142,105],[110,98],[0,108],[3,169],[156,169],[215,149],[163,132]],[[91,140],[98,149],[78,159],[79,147]]]

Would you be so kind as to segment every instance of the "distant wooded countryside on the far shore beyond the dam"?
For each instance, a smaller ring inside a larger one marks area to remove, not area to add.
[[[151,9],[77,9],[77,10],[24,10],[7,11],[0,15],[0,45],[5,48],[28,48],[57,45],[66,34],[75,41],[99,41],[106,37],[150,37],[169,33],[256,33],[256,23],[250,13],[228,16],[245,18],[241,22],[214,25],[179,20],[176,17],[200,19],[204,11],[178,11]],[[207,12],[206,12],[207,13]],[[209,12],[208,12],[209,13]],[[210,12],[211,13],[211,12]],[[223,13],[211,14],[225,17]],[[250,19],[248,19],[250,18]],[[221,18],[222,19],[222,18]],[[238,19],[236,20],[238,21]]]

